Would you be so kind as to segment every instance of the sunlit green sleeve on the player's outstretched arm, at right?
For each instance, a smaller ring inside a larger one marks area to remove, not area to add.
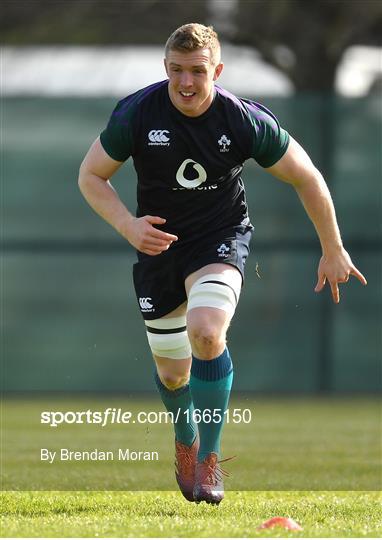
[[[253,126],[252,155],[261,167],[271,167],[283,157],[289,145],[289,133],[274,114],[263,105],[247,102]]]

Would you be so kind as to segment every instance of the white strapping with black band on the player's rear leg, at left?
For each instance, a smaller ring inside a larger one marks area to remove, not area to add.
[[[186,316],[145,321],[151,351],[156,356],[183,360],[191,356]]]

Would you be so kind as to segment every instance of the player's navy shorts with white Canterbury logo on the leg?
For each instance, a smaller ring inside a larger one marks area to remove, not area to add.
[[[184,281],[207,264],[225,263],[237,268],[244,279],[252,227],[223,229],[197,242],[173,244],[160,255],[139,253],[133,266],[138,306],[145,320],[160,319],[187,300]]]

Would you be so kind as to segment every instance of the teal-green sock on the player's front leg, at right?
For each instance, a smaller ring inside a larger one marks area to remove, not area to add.
[[[201,415],[201,421],[198,423],[200,438],[198,461],[203,461],[211,452],[220,457],[224,413],[228,407],[232,379],[232,360],[227,348],[213,360],[199,360],[192,357],[190,390],[195,411]],[[203,411],[206,411],[204,419]]]

